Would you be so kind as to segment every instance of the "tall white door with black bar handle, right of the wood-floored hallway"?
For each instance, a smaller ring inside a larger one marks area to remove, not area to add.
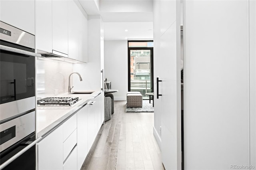
[[[161,96],[157,97],[157,91],[154,91],[154,118],[158,119],[155,125],[161,126],[164,167],[177,170],[181,169],[181,100],[180,93],[177,93],[180,92],[180,1],[160,1],[157,6],[160,11],[155,9],[154,12],[160,16],[160,28],[154,31],[160,34],[154,39],[157,43],[154,70],[158,70],[154,76],[160,80],[158,92]],[[159,134],[159,127],[154,128]]]

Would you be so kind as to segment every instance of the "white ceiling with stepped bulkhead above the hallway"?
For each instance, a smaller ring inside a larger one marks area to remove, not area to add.
[[[88,15],[101,15],[104,22],[104,40],[153,39],[153,0],[79,2]]]

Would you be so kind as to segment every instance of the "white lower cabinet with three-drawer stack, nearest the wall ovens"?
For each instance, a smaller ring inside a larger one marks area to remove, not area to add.
[[[38,170],[77,169],[77,114],[38,142]]]

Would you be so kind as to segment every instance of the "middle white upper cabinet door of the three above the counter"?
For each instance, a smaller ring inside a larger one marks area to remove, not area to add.
[[[52,1],[52,49],[68,54],[68,1]]]

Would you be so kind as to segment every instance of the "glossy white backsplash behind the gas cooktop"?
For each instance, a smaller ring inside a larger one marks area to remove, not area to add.
[[[38,57],[36,59],[37,94],[55,96],[68,92],[68,76],[72,72],[72,63]],[[72,85],[72,76],[70,78]]]

